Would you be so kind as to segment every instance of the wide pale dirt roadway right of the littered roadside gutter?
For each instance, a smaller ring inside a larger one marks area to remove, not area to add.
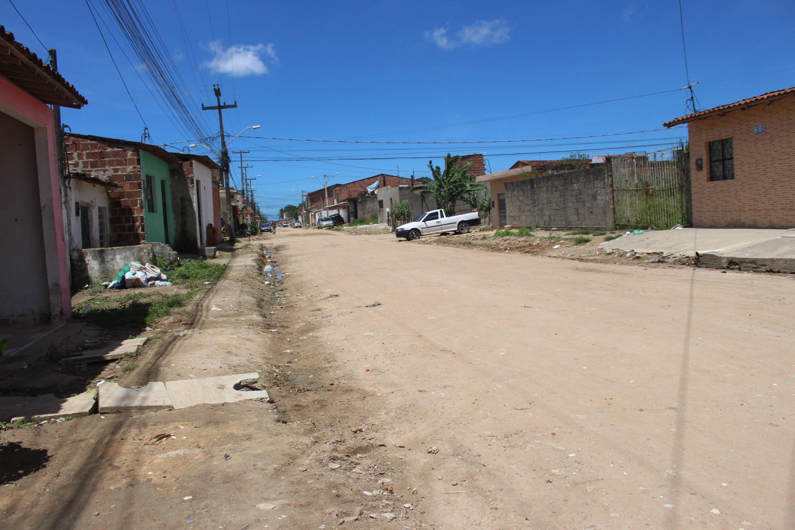
[[[427,522],[795,528],[792,277],[272,241]]]

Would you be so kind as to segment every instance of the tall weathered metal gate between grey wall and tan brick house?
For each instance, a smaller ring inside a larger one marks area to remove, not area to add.
[[[615,226],[670,228],[687,220],[686,146],[610,157]]]

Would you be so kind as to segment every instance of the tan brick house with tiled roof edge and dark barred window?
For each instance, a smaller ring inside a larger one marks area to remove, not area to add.
[[[693,226],[795,226],[795,87],[665,122],[688,124]]]

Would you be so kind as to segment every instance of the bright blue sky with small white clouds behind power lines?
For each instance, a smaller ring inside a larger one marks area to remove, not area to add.
[[[113,29],[103,2],[91,1]],[[225,128],[232,134],[259,125],[246,136],[538,139],[655,130],[662,122],[686,114],[684,91],[532,114],[684,87],[679,4],[671,0],[230,0],[228,17],[225,0],[180,0],[176,4],[187,38],[180,31],[173,2],[143,3],[164,52],[188,88],[184,98],[196,105],[215,104],[211,84],[221,83],[223,99],[237,100],[238,109],[225,111]],[[57,48],[60,72],[89,100],[82,110],[64,110],[64,123],[78,133],[139,140],[142,119],[85,2],[14,0],[14,4],[38,38]],[[764,9],[750,1],[683,0],[682,4],[690,79],[699,82],[695,91],[701,108],[795,84],[791,0],[764,2]],[[34,52],[45,53],[8,0],[0,0],[0,24]],[[99,24],[105,31],[101,20]],[[130,53],[118,30],[114,35],[130,62],[106,31],[152,143],[190,140],[139,79],[145,65]],[[200,110],[195,114],[208,134],[217,132],[215,114]],[[529,115],[439,127],[516,114]],[[239,137],[230,149],[251,151],[246,154],[248,164],[254,165],[249,175],[262,175],[255,189],[266,212],[273,214],[286,203],[300,202],[301,189],[318,188],[312,176],[336,172],[330,182],[348,182],[378,172],[395,174],[398,167],[401,176],[412,171],[426,176],[429,159],[443,163],[448,151],[484,153],[496,172],[519,159],[558,158],[577,150],[651,151],[673,143],[684,132],[513,145],[323,144]],[[176,144],[174,149],[184,145],[188,144]],[[390,160],[306,160],[318,157]],[[235,180],[239,183],[237,169]]]

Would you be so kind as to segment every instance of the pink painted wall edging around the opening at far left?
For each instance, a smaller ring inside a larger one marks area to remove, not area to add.
[[[65,320],[72,316],[72,295],[69,292],[68,253],[64,238],[52,109],[0,77],[0,112],[9,114],[34,129],[45,230],[45,241],[42,244],[45,246],[52,319]]]

